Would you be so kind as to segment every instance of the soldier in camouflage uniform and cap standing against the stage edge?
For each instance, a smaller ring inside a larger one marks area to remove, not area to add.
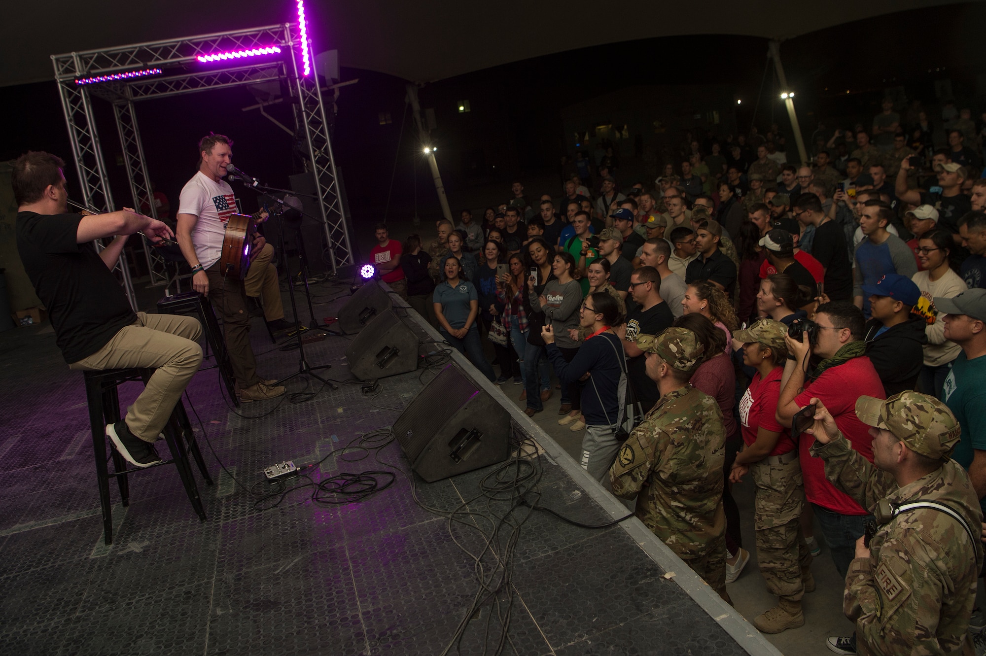
[[[637,496],[637,517],[730,601],[722,498],[726,429],[716,400],[688,384],[702,346],[684,328],[638,335],[636,343],[662,396],[620,448],[609,470],[613,492]]]

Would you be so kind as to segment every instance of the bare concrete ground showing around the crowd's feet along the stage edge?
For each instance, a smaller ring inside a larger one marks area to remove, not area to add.
[[[522,385],[514,385],[508,380],[502,386],[504,393],[519,407],[527,407],[526,402],[518,400],[523,391]],[[582,454],[582,432],[573,432],[569,426],[558,426],[558,406],[561,403],[560,390],[553,390],[551,398],[544,404],[544,411],[534,415],[538,426],[551,435],[576,461]],[[753,482],[747,475],[742,483],[733,487],[733,495],[740,505],[742,519],[742,545],[750,558],[740,578],[728,586],[733,604],[740,614],[749,621],[776,605],[777,598],[767,592],[756,564],[756,547],[753,537]],[[803,604],[805,625],[789,629],[777,635],[768,635],[778,649],[788,656],[822,656],[831,654],[825,646],[829,635],[849,635],[853,624],[842,614],[843,581],[835,570],[835,564],[828,556],[820,533],[815,531],[815,539],[822,544],[821,555],[814,559],[811,572],[814,575],[815,591],[806,594]]]

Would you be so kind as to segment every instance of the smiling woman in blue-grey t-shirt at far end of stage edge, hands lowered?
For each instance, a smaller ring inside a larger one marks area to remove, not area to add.
[[[458,257],[449,255],[442,267],[443,280],[435,288],[433,306],[438,318],[439,332],[446,342],[479,369],[490,382],[496,382],[493,367],[483,357],[476,318],[479,316],[479,295],[467,280],[462,280]]]

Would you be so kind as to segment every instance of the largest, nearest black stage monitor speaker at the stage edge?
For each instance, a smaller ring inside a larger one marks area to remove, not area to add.
[[[510,456],[510,413],[454,364],[411,401],[393,432],[411,468],[428,483]]]

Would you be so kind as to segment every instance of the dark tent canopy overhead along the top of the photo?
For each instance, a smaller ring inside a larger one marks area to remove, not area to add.
[[[0,86],[50,80],[49,55],[297,21],[297,0],[8,3]],[[341,66],[432,82],[530,57],[681,34],[791,38],[947,0],[829,0],[799,9],[780,0],[307,0],[316,52]],[[603,11],[604,9],[604,11]],[[668,53],[655,52],[656,57]]]

